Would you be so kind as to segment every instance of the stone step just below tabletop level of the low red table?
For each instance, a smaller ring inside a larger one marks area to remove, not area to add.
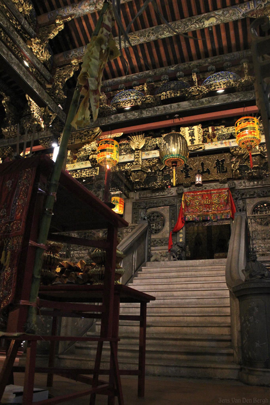
[[[122,307],[120,310],[121,315],[139,315],[139,307]],[[173,316],[216,316],[216,315],[227,315],[230,316],[230,308],[228,306],[191,306],[191,307],[179,307],[179,306],[167,306],[167,307],[148,307],[147,308],[147,321],[150,315],[173,315]]]

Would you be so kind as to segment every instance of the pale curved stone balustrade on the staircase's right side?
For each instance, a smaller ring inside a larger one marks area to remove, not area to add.
[[[241,363],[241,323],[239,299],[235,296],[233,288],[244,282],[242,270],[246,267],[249,252],[248,226],[246,213],[236,213],[229,240],[229,249],[226,262],[226,284],[229,289],[230,327],[234,361]]]

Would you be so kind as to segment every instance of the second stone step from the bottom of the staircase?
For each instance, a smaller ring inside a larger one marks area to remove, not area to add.
[[[89,343],[89,344],[86,344]],[[95,342],[79,342],[75,347],[75,354],[89,355],[94,357],[96,354],[97,345]],[[110,355],[109,345],[103,346],[102,360],[108,361]],[[119,344],[118,346],[118,360],[123,361],[126,358],[133,358],[137,361],[139,356],[139,348],[137,345],[125,346]],[[198,360],[198,361],[233,361],[233,350],[230,348],[216,348],[216,347],[175,347],[171,346],[164,349],[163,346],[150,346],[147,347],[147,359],[165,359],[174,360]]]

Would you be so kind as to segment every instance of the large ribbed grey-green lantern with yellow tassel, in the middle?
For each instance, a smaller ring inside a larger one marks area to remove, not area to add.
[[[179,132],[167,134],[160,146],[160,159],[166,166],[173,168],[173,185],[175,186],[175,168],[183,166],[188,159],[188,146]]]

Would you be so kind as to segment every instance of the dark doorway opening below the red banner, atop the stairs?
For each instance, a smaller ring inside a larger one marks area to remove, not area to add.
[[[226,258],[230,238],[230,224],[186,223],[186,259]]]

